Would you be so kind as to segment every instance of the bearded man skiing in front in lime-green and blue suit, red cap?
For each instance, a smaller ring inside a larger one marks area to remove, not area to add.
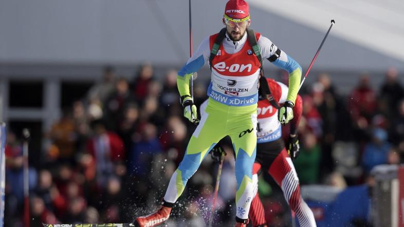
[[[248,28],[251,20],[244,0],[227,2],[223,24],[226,28],[208,36],[178,72],[177,87],[184,116],[196,122],[197,108],[191,98],[189,81],[194,72],[209,63],[212,72],[208,104],[171,177],[161,208],[151,215],[136,218],[139,226],[156,226],[169,218],[189,178],[215,144],[226,136],[230,136],[235,150],[235,226],[246,226],[255,187],[252,169],[256,155],[258,90],[259,81],[265,82],[265,78],[260,77],[262,59],[289,72],[289,90],[279,109],[279,121],[288,123],[293,118],[302,74],[300,65],[269,39]]]

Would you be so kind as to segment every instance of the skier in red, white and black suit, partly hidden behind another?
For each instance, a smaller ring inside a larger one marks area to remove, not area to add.
[[[286,101],[288,87],[271,79],[266,79],[273,99],[258,101],[258,126],[257,126],[257,150],[253,165],[252,181],[254,187],[254,198],[251,203],[249,218],[254,227],[265,227],[264,207],[258,194],[258,174],[264,169],[281,187],[284,197],[291,210],[295,212],[299,225],[302,227],[316,226],[313,212],[309,209],[300,195],[299,179],[292,160],[297,158],[300,152],[298,139],[298,126],[302,116],[302,98],[298,95],[293,108],[293,119],[290,122],[290,133],[285,147],[282,139],[281,123],[278,120],[278,108]],[[207,105],[205,101],[200,111]],[[224,154],[222,154],[224,153]],[[220,162],[226,153],[217,145],[212,149],[212,159]]]

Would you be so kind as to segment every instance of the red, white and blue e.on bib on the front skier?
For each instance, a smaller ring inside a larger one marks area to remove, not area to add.
[[[210,48],[217,35],[209,37]],[[260,33],[255,33],[255,37],[259,40]],[[227,53],[221,44],[212,61],[212,81],[208,96],[230,106],[257,103],[260,66],[248,41],[240,51],[231,54]]]

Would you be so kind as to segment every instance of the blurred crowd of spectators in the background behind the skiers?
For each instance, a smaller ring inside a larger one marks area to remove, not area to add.
[[[196,126],[182,117],[176,70],[156,77],[153,67],[145,64],[127,78],[105,67],[102,80],[63,109],[61,119],[44,135],[43,150],[30,153],[40,159],[29,171],[31,226],[132,222],[159,205]],[[347,96],[331,78],[319,74],[300,92],[301,153],[294,164],[302,185],[362,184],[373,166],[404,160],[404,89],[397,70],[388,69],[377,89],[368,75],[360,75]],[[287,84],[282,72],[275,79]],[[206,88],[204,82],[195,82],[197,105],[207,98]],[[23,221],[24,159],[18,134],[8,130],[5,226],[22,226]],[[234,221],[236,182],[230,141],[225,138],[223,146],[228,155],[214,220],[228,226]],[[216,174],[217,164],[207,157],[188,182],[168,226],[205,226]],[[280,188],[267,174],[260,178],[267,220],[287,226],[290,212]]]

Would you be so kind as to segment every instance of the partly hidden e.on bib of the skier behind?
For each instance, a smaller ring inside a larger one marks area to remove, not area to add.
[[[272,79],[268,79],[268,86],[273,99],[278,103],[286,101],[288,87]],[[278,109],[268,100],[258,101],[258,143],[265,143],[277,140],[282,136],[281,123],[278,120]]]

